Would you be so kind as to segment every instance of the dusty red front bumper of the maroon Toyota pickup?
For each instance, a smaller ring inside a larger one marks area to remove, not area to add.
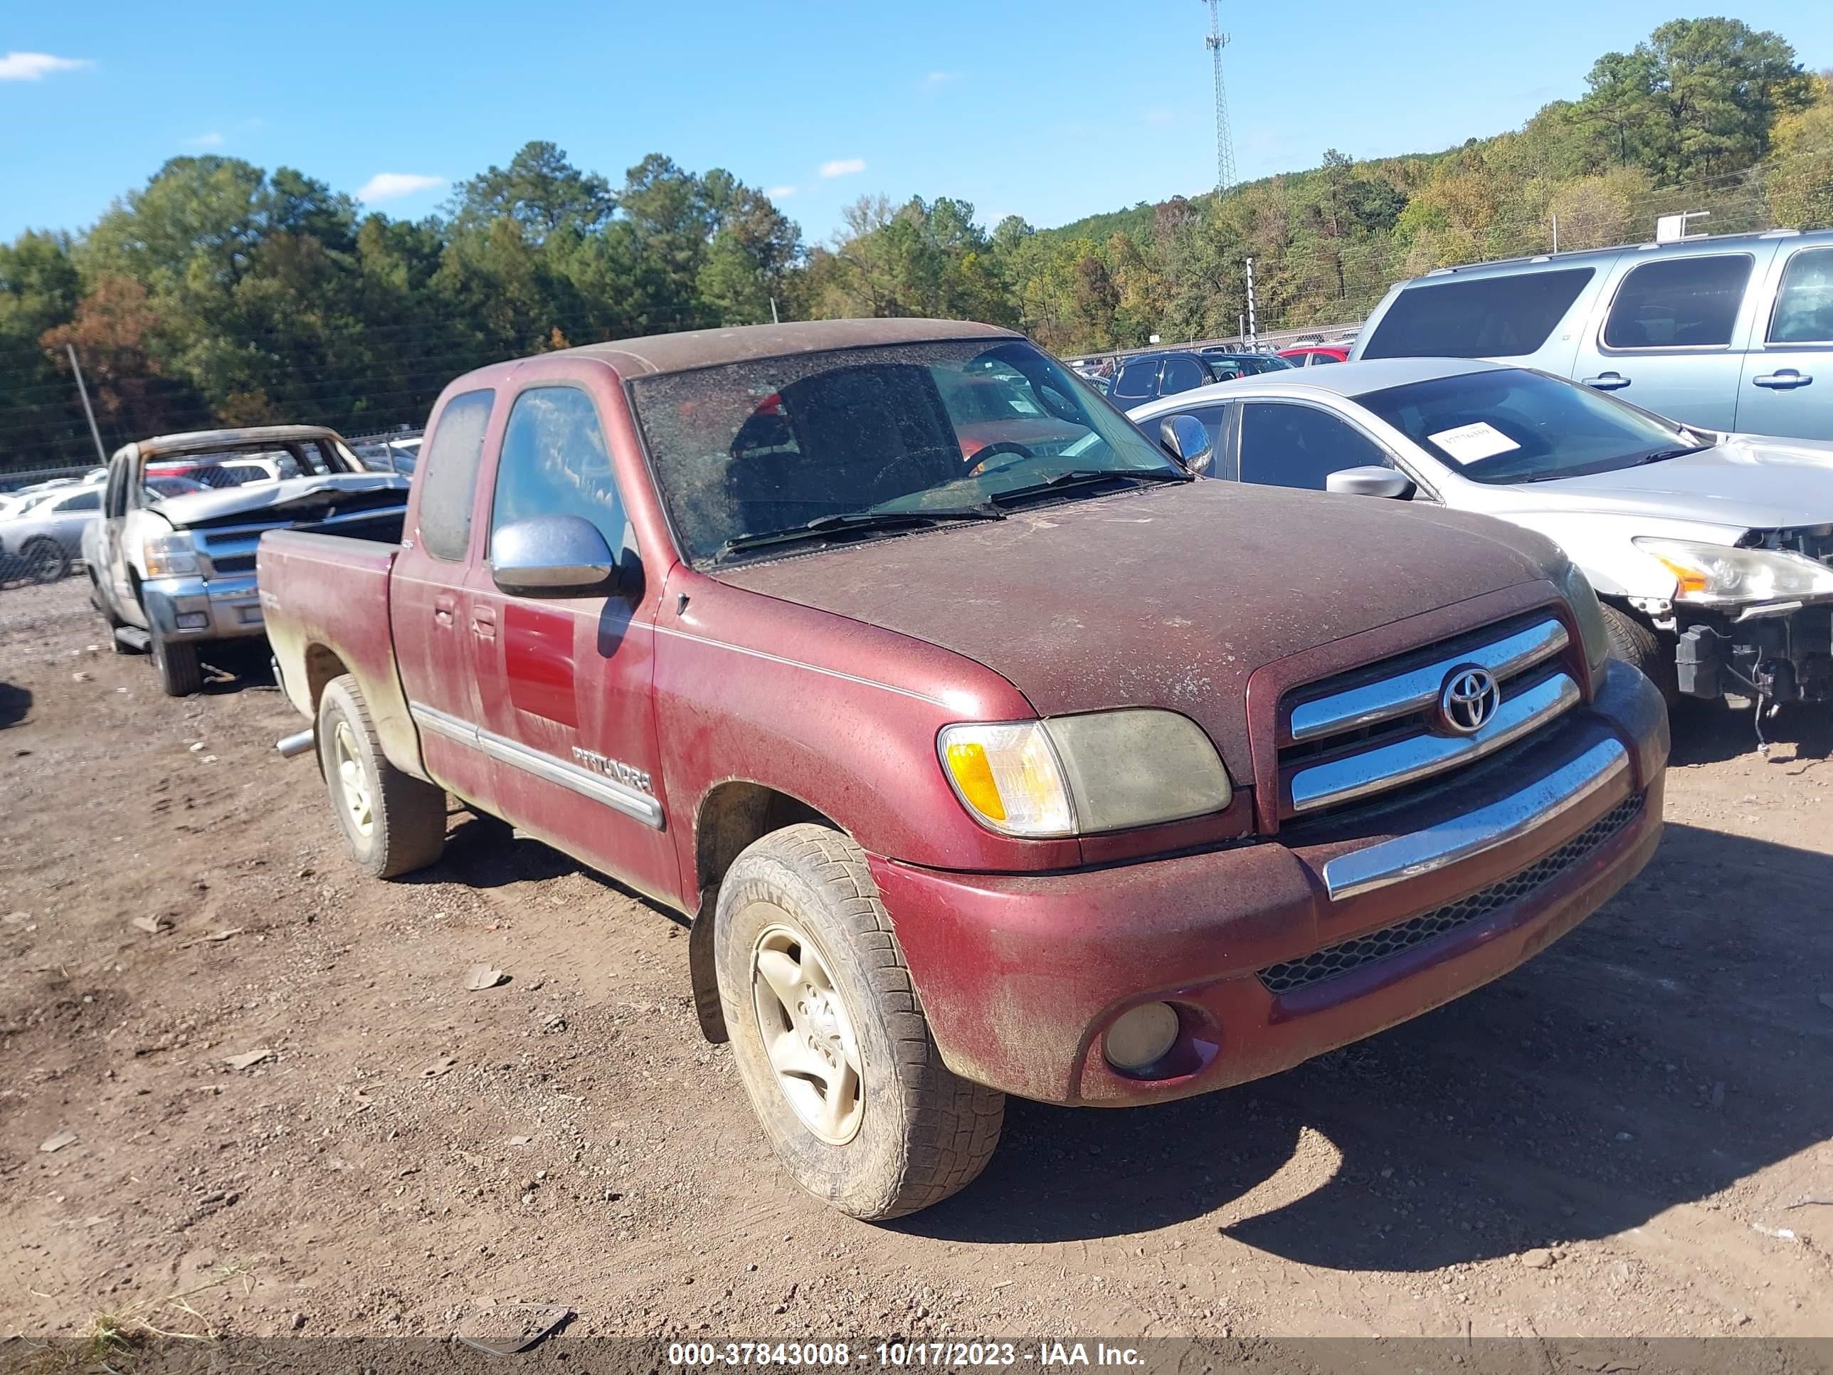
[[[1058,1104],[1182,1098],[1448,1003],[1633,878],[1661,840],[1661,697],[1613,662],[1567,720],[1472,768],[1393,834],[1058,874],[873,856],[873,876],[957,1074]],[[1147,1001],[1173,1003],[1182,1036],[1160,1078],[1129,1078],[1100,1038]]]

